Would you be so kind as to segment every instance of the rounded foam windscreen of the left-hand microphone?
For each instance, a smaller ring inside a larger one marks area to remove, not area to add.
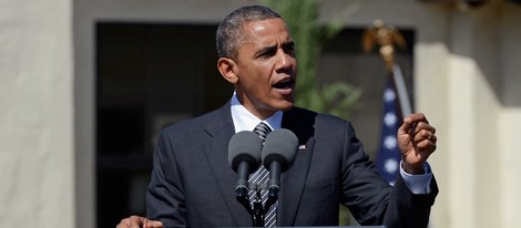
[[[249,174],[260,165],[260,151],[263,141],[257,134],[248,131],[239,132],[232,136],[228,143],[228,164],[237,172],[241,162],[249,164]]]

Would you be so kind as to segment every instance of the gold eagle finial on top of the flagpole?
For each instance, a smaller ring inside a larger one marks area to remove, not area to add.
[[[362,48],[365,52],[371,52],[377,43],[380,46],[380,55],[388,70],[392,70],[395,64],[395,44],[401,49],[407,48],[403,35],[392,25],[384,23],[382,20],[375,20],[372,25],[367,28],[362,37]]]

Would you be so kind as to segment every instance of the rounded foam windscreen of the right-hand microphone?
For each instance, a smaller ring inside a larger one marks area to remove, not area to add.
[[[298,149],[298,138],[289,129],[280,128],[269,133],[264,143],[262,158],[266,168],[273,160],[283,165],[283,170],[293,163]]]

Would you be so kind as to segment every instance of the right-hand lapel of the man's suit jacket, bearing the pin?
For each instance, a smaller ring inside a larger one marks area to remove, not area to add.
[[[280,177],[279,207],[277,226],[294,226],[297,209],[306,184],[315,147],[314,132],[315,114],[303,112],[298,107],[284,113],[283,126],[295,133],[299,148],[295,162]]]

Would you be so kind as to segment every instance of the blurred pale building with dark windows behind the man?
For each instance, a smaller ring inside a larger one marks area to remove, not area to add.
[[[351,121],[378,157],[389,71],[362,37],[377,19],[391,24],[407,43],[395,61],[412,107],[439,137],[430,227],[517,227],[521,2],[314,2],[333,32],[304,45],[319,46],[306,72],[321,93],[344,84],[349,97],[341,113],[317,108]],[[157,131],[232,95],[216,71],[219,21],[268,3],[0,0],[0,227],[104,228],[145,215]]]

